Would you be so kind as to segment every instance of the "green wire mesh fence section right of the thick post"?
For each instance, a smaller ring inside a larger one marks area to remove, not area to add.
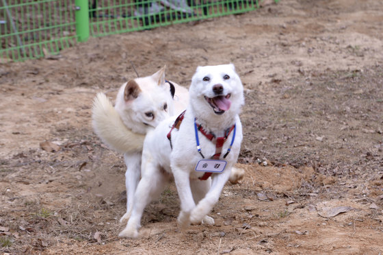
[[[95,0],[90,7],[90,34],[105,36],[153,29],[248,12],[258,7],[258,0]]]

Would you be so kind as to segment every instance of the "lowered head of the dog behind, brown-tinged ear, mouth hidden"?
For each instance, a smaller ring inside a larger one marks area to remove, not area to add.
[[[173,113],[172,94],[165,69],[147,77],[129,80],[118,92],[116,110],[133,132],[144,134]]]

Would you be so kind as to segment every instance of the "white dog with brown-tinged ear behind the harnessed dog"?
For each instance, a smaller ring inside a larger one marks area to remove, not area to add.
[[[98,93],[94,99],[94,131],[109,147],[124,154],[127,165],[127,212],[120,221],[129,219],[133,208],[133,196],[141,177],[142,145],[146,132],[157,127],[163,119],[181,113],[187,106],[187,89],[167,82],[165,69],[166,66],[153,75],[123,84],[115,107],[103,93]]]

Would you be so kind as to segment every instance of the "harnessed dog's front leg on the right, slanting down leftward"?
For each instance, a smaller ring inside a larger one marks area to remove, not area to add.
[[[212,176],[211,189],[197,206],[190,213],[190,221],[193,224],[201,223],[202,219],[213,209],[213,206],[218,202],[222,189],[230,176],[231,166],[223,173],[216,173]],[[204,181],[201,181],[204,182]]]

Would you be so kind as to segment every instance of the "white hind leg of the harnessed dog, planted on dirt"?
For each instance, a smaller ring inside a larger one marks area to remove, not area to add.
[[[120,237],[135,238],[138,236],[142,213],[144,213],[146,205],[153,198],[158,197],[159,193],[163,191],[163,188],[168,183],[168,175],[161,173],[157,165],[144,161],[142,167],[145,167],[145,169],[135,191],[131,217],[127,227],[118,234]]]

